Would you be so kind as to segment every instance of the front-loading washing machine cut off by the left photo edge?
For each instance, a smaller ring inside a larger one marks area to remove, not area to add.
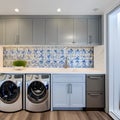
[[[0,74],[0,111],[22,109],[22,80],[20,74]]]

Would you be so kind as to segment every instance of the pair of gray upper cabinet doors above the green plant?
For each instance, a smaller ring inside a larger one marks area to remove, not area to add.
[[[32,19],[6,19],[5,44],[32,44]]]

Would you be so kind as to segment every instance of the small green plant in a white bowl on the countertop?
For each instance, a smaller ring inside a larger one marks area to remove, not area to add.
[[[16,70],[22,70],[26,67],[27,61],[25,60],[15,60],[13,61],[13,66]]]

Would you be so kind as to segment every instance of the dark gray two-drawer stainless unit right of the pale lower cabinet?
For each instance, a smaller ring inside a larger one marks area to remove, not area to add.
[[[86,107],[99,108],[105,107],[105,75],[90,74],[86,76]]]

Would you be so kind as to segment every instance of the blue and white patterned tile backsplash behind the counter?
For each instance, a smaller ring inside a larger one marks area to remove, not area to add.
[[[3,66],[12,67],[14,60],[27,61],[27,67],[63,68],[65,60],[70,68],[93,68],[94,48],[70,48],[55,46],[4,47]]]

